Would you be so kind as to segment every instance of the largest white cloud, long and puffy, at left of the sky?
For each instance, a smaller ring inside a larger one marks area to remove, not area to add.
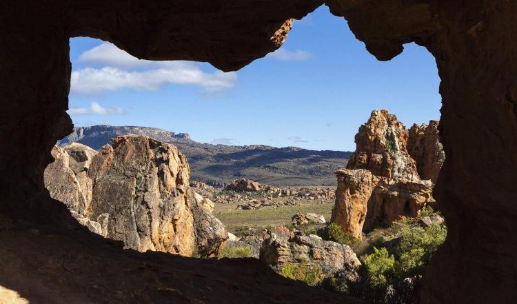
[[[95,95],[121,89],[154,91],[171,84],[199,85],[214,92],[232,88],[237,81],[235,72],[204,72],[199,63],[187,61],[139,60],[106,42],[81,54],[79,61],[104,66],[72,72],[72,94]]]

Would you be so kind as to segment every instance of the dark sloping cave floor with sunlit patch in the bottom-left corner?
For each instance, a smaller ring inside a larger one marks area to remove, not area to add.
[[[363,303],[283,278],[256,259],[122,250],[84,229],[52,233],[5,218],[0,267],[0,303]]]

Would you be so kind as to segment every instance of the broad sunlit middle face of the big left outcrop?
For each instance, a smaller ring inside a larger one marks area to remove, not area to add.
[[[108,238],[127,247],[189,256],[196,246],[189,171],[172,145],[117,137],[90,165],[90,217],[110,214]]]

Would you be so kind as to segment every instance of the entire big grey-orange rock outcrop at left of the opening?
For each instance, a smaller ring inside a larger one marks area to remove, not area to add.
[[[214,203],[190,189],[187,159],[173,145],[120,136],[99,154],[73,143],[53,155],[45,171],[52,197],[92,232],[134,250],[186,256],[216,254],[227,239]]]

